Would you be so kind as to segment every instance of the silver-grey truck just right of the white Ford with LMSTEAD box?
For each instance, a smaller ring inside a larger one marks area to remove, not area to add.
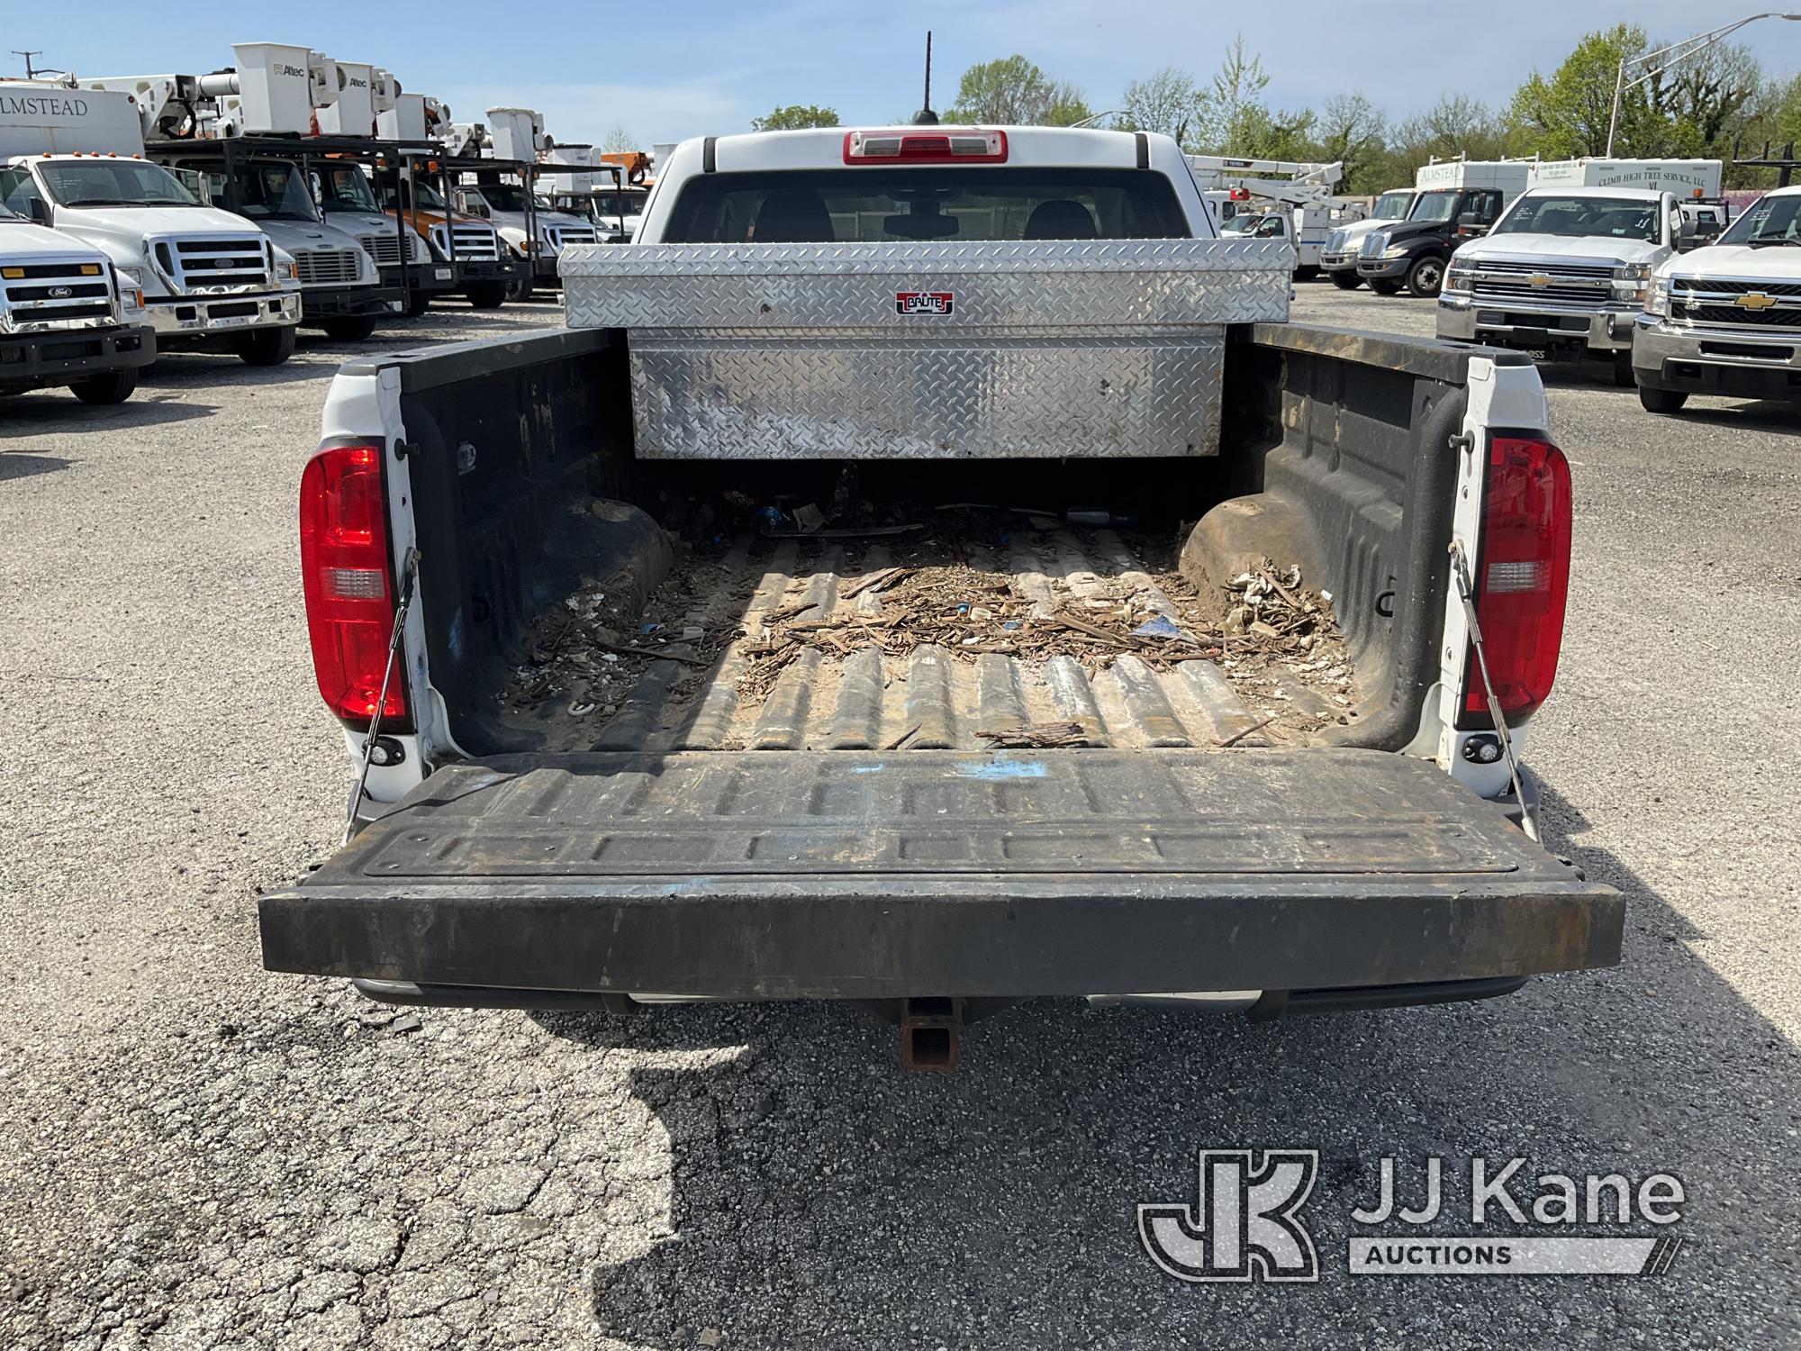
[[[166,162],[198,173],[216,205],[254,222],[294,259],[303,324],[355,342],[403,310],[400,288],[384,281],[371,252],[321,214],[313,182],[297,160],[209,151]]]

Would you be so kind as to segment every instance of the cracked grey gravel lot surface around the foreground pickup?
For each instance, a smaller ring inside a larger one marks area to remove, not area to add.
[[[1297,317],[1432,328],[1326,285]],[[1801,1344],[1792,413],[1547,371],[1576,580],[1529,758],[1554,847],[1630,897],[1623,967],[1273,1025],[1030,1005],[904,1077],[850,1009],[394,1018],[261,971],[256,890],[344,803],[294,495],[348,351],[0,402],[0,1346]],[[1145,1259],[1135,1205],[1234,1144],[1324,1153],[1318,1284]],[[1644,1281],[1344,1274],[1381,1155],[1471,1153],[1673,1171],[1691,1247]]]

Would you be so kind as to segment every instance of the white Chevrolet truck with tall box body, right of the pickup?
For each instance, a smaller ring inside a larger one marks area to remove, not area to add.
[[[1693,240],[1682,196],[1716,196],[1720,160],[1558,160],[1495,229],[1452,254],[1443,339],[1612,362],[1632,385],[1632,330],[1652,272]]]

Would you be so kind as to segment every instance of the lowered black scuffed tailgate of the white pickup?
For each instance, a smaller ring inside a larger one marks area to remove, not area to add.
[[[904,998],[1570,971],[1623,915],[1383,751],[708,751],[439,769],[261,933],[276,971]]]

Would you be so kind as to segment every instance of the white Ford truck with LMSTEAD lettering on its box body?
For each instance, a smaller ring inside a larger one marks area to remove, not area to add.
[[[0,202],[104,252],[124,285],[144,292],[158,351],[229,346],[252,366],[292,355],[294,259],[144,159],[133,95],[0,85]]]

